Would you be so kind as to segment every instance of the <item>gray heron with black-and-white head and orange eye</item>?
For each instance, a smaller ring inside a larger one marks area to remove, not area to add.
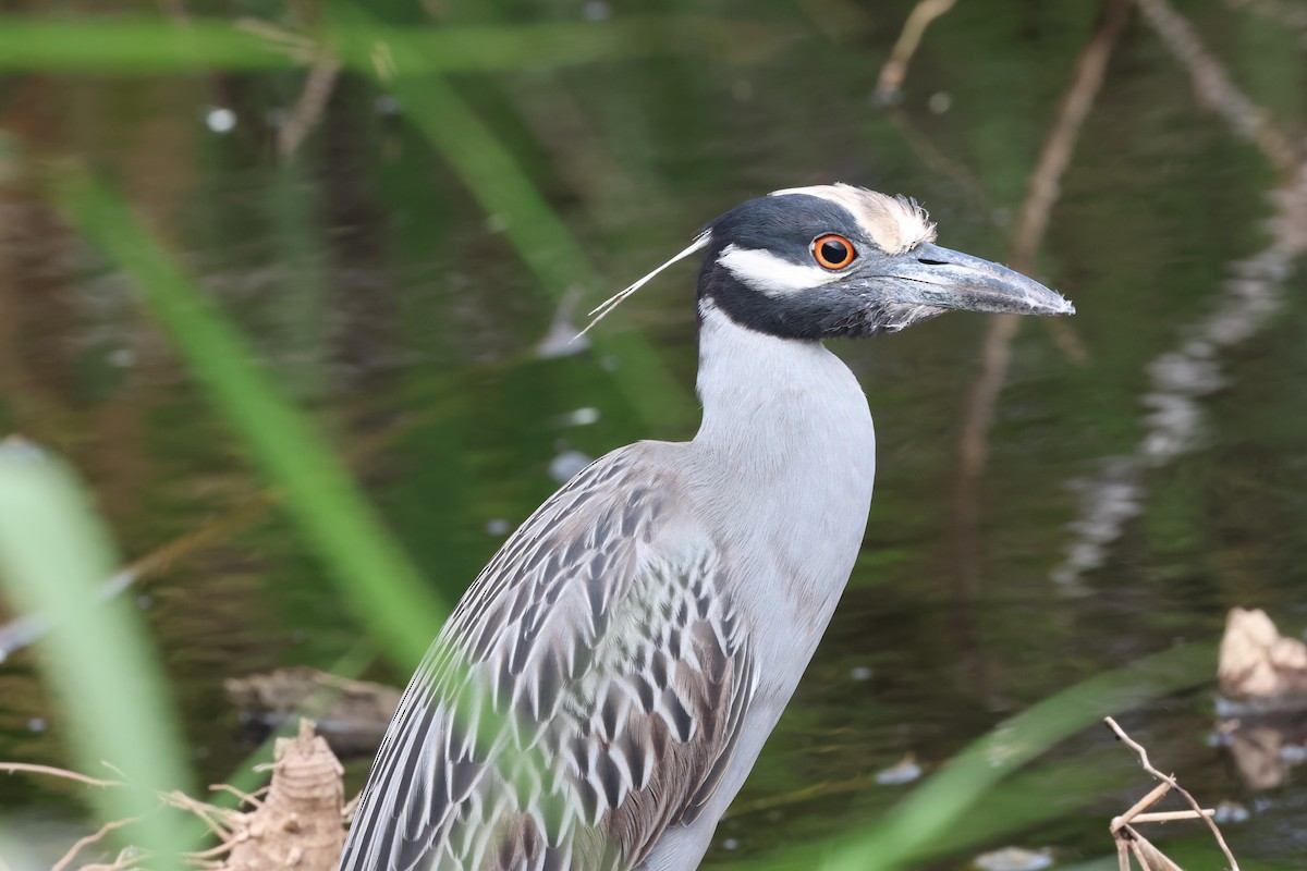
[[[341,868],[694,868],[863,541],[872,418],[822,340],[1074,311],[844,184],[749,200],[664,266],[695,251],[699,432],[609,453],[505,543],[409,683]]]

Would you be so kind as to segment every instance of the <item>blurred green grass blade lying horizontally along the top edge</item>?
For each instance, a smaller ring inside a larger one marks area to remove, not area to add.
[[[668,54],[757,59],[779,34],[697,16],[481,27],[281,30],[220,18],[0,16],[0,71],[161,74],[306,65],[320,42],[346,65],[401,76],[555,69]],[[388,57],[389,56],[389,57]],[[393,57],[403,57],[395,64]]]

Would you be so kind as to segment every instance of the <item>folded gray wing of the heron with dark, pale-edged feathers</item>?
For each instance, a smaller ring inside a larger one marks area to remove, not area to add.
[[[387,730],[342,871],[625,871],[698,817],[757,680],[718,550],[654,545],[681,507],[639,452],[572,478],[464,595]]]

